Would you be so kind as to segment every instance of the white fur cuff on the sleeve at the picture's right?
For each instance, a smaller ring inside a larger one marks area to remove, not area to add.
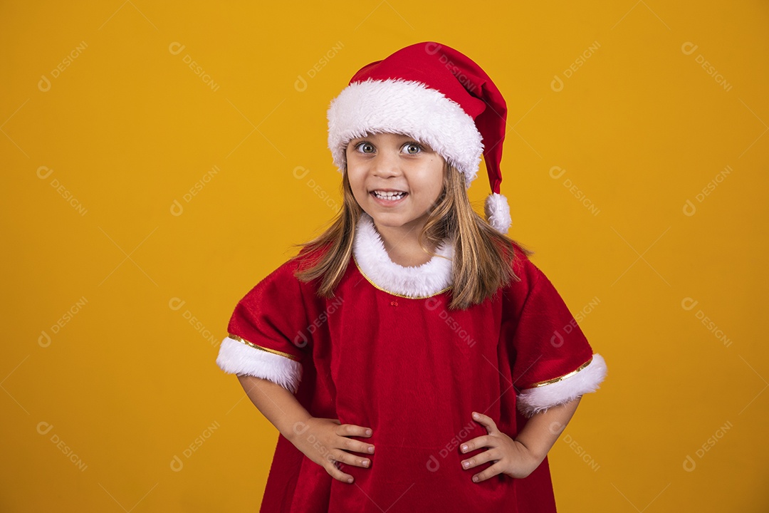
[[[593,355],[593,361],[573,376],[551,385],[527,388],[518,394],[518,409],[527,417],[539,411],[562,405],[588,392],[598,390],[606,377],[606,361],[601,355]]]

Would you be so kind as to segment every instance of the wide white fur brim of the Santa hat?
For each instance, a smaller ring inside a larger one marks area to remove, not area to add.
[[[461,106],[437,89],[401,79],[348,85],[328,108],[328,148],[345,168],[345,147],[367,132],[411,135],[464,173],[466,185],[478,175],[481,132]]]

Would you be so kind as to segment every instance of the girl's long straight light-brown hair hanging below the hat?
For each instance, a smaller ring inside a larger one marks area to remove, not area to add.
[[[347,171],[341,182],[342,208],[318,238],[299,244],[301,258],[295,273],[301,281],[318,279],[318,295],[331,298],[345,274],[352,255],[355,226],[363,212],[352,194]],[[450,309],[464,309],[493,296],[511,281],[519,281],[513,270],[514,246],[524,255],[534,252],[491,227],[470,204],[464,175],[444,165],[443,191],[428,212],[419,234],[419,245],[429,255],[441,242],[454,245]]]

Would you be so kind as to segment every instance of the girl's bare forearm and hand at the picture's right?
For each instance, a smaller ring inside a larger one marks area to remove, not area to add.
[[[471,469],[487,461],[494,461],[494,465],[473,475],[474,482],[485,481],[498,474],[506,474],[511,478],[527,477],[548,455],[577,410],[580,399],[532,415],[515,439],[499,431],[490,417],[474,412],[473,420],[484,425],[488,435],[465,442],[460,450],[463,453],[483,447],[488,447],[488,450],[462,460],[462,468]]]

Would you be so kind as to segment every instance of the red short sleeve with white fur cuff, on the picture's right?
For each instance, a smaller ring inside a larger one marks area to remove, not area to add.
[[[507,337],[518,409],[530,417],[598,389],[606,363],[595,354],[554,285],[528,258],[508,288]]]

